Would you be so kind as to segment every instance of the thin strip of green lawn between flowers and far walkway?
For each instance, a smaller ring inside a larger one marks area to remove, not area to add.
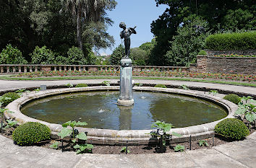
[[[212,84],[230,84],[245,87],[256,87],[255,83],[240,82],[240,81],[213,81],[208,79],[188,79],[188,78],[167,78],[167,77],[150,77],[150,76],[133,76],[133,79],[143,80],[166,80],[166,81],[197,81]],[[51,76],[51,77],[38,77],[27,78],[17,77],[15,75],[0,76],[0,80],[14,80],[14,81],[53,81],[53,80],[82,80],[82,79],[119,79],[119,76]]]

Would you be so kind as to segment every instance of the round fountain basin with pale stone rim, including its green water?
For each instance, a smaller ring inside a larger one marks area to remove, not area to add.
[[[176,126],[171,132],[182,134],[182,138],[173,136],[173,142],[187,141],[189,136],[209,137],[220,120],[233,118],[237,108],[233,103],[209,94],[152,87],[134,87],[135,105],[120,107],[116,105],[119,92],[113,92],[118,89],[85,87],[46,90],[10,103],[7,108],[14,113],[7,115],[19,123],[33,121],[46,124],[54,135],[61,131],[61,123],[67,120],[86,121],[91,128],[77,129],[88,132],[88,138],[93,138],[93,143],[120,144],[130,141],[130,144],[145,144],[151,138],[148,133],[152,131],[150,125],[155,120],[164,120]],[[24,114],[20,112],[21,106]],[[59,112],[54,112],[60,107]]]

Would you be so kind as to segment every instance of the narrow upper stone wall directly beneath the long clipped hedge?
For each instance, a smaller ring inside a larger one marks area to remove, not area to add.
[[[255,56],[256,50],[205,50],[208,56],[215,55],[242,55],[242,56]]]

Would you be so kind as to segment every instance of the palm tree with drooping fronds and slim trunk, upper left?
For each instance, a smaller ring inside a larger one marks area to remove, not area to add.
[[[82,50],[82,23],[98,22],[106,15],[105,10],[114,9],[115,0],[61,0],[64,9],[72,12],[77,22],[77,42]]]

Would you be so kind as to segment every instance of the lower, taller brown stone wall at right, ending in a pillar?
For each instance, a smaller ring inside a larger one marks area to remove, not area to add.
[[[190,64],[189,72],[256,74],[256,57],[197,56],[197,64]]]

